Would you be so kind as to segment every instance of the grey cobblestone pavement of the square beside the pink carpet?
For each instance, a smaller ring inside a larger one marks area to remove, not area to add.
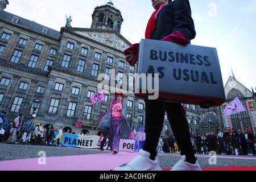
[[[102,152],[109,152],[82,148],[27,146],[0,143],[0,161],[38,158],[39,151],[45,151],[47,157],[102,154]],[[180,160],[180,156],[174,154],[160,154],[158,156],[162,168],[171,168],[171,166],[174,166],[174,164]],[[201,167],[256,166],[255,156],[217,155],[216,165],[210,165],[209,158],[210,156],[207,155],[197,155]]]

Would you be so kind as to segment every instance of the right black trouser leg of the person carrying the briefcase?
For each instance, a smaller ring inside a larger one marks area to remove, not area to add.
[[[175,139],[179,144],[180,154],[186,156],[187,162],[195,164],[196,158],[193,154],[188,122],[181,105],[166,103],[166,111]]]

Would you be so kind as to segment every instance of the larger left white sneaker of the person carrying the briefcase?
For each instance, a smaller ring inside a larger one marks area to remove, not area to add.
[[[114,169],[114,171],[161,171],[158,157],[155,160],[150,159],[150,152],[139,150],[139,154],[127,164],[123,164]]]

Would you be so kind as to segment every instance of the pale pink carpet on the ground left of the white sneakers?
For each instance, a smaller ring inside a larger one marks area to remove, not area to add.
[[[92,154],[46,158],[46,165],[36,159],[19,159],[0,162],[0,171],[110,171],[129,162],[136,153],[119,152],[118,155]]]

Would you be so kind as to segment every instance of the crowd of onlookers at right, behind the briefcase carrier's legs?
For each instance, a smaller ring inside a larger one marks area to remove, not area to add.
[[[214,132],[203,135],[194,135],[191,138],[195,154],[209,154],[214,151],[219,155],[249,155],[255,156],[256,135],[249,127],[245,127],[243,132],[238,129],[232,131],[218,130],[217,135]],[[176,153],[179,148],[175,147],[175,137],[167,135],[159,138],[158,153]]]

